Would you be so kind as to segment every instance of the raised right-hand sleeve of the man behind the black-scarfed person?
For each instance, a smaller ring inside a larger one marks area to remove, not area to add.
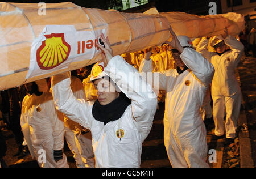
[[[212,82],[214,67],[200,53],[192,48],[184,48],[180,58],[204,86],[208,86]]]

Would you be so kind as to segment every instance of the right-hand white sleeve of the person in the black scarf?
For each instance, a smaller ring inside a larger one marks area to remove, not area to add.
[[[133,117],[143,142],[150,133],[157,106],[157,97],[152,87],[121,56],[115,56],[109,61],[105,73],[131,99]]]

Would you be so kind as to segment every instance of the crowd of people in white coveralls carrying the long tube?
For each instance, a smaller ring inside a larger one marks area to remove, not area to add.
[[[77,167],[140,167],[142,143],[158,103],[165,103],[164,146],[172,167],[209,167],[207,122],[214,121],[214,139],[229,145],[236,137],[241,90],[234,70],[244,45],[226,31],[193,41],[170,33],[171,42],[121,56],[113,56],[101,34],[102,61],[1,91],[15,156],[30,154],[39,167],[69,167],[66,140]],[[148,83],[154,76],[157,89]],[[7,167],[1,133],[0,143]]]

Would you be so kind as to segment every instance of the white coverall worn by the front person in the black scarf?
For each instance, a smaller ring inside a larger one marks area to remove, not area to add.
[[[56,109],[92,132],[96,167],[139,167],[142,142],[150,133],[156,112],[156,95],[139,72],[121,56],[115,56],[109,61],[105,73],[131,99],[131,105],[119,120],[108,122],[106,125],[95,120],[92,115],[93,105],[73,96],[67,74],[52,78]],[[141,85],[141,88],[138,85]],[[117,132],[121,129],[123,137],[119,138]]]

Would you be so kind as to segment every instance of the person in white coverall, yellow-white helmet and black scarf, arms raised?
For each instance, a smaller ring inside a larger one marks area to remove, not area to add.
[[[104,62],[97,63],[91,76],[98,99],[93,105],[76,99],[69,74],[63,73],[52,78],[56,109],[92,132],[96,167],[139,167],[142,142],[150,133],[156,112],[156,96],[133,66],[121,56],[113,57],[108,37],[101,34],[100,38],[105,48],[97,45],[106,67]]]

